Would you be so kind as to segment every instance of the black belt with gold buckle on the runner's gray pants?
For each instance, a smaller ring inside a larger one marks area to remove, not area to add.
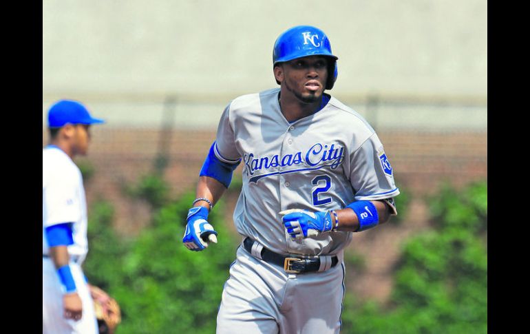
[[[245,238],[243,245],[248,253],[253,254],[254,240],[251,238]],[[263,247],[260,252],[262,260],[265,262],[276,264],[279,267],[284,267],[287,273],[308,273],[310,271],[319,271],[321,268],[320,258],[293,258],[291,256],[280,255],[273,251],[269,251]],[[339,263],[337,256],[331,256],[331,265],[329,268],[335,267]],[[328,268],[328,269],[329,269]]]

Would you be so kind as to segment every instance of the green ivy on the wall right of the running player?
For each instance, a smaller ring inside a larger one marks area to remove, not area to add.
[[[342,333],[487,333],[487,183],[431,199],[436,229],[404,244],[392,307],[345,299]]]

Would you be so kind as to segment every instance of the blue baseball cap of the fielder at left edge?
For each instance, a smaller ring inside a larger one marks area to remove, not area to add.
[[[65,124],[105,123],[103,119],[90,116],[87,108],[74,100],[59,100],[48,110],[48,127],[63,127]]]

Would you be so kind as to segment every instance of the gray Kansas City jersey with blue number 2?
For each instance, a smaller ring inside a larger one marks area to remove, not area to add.
[[[354,200],[392,198],[399,194],[392,167],[374,129],[336,98],[289,123],[278,94],[275,88],[235,98],[220,120],[216,156],[244,164],[235,226],[277,253],[337,254],[352,233],[291,240],[279,211],[326,211]]]

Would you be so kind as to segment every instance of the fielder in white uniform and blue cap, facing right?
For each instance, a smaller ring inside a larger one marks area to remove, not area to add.
[[[98,333],[94,300],[109,295],[88,284],[81,264],[88,251],[87,207],[81,171],[89,127],[104,123],[77,101],[48,110],[50,145],[43,148],[43,333]]]

